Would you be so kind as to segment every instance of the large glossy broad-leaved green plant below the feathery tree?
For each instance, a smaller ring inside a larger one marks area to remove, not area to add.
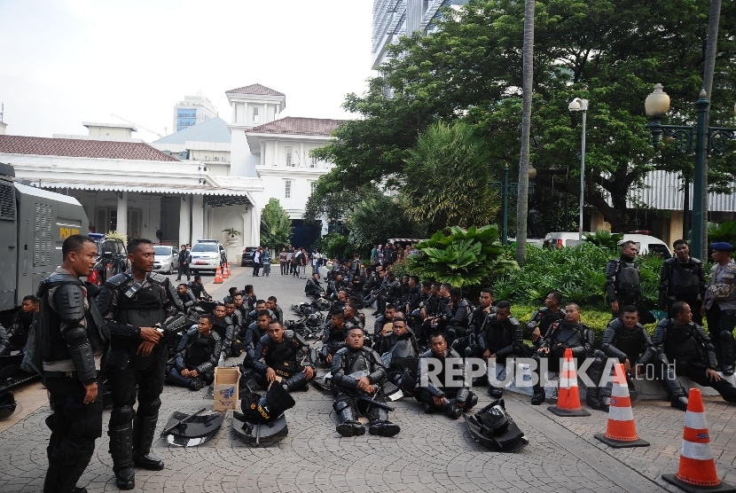
[[[450,286],[467,287],[481,284],[492,274],[519,269],[498,243],[496,225],[467,230],[453,226],[447,231],[449,234],[437,231],[417,244],[419,254],[409,257],[411,272]]]

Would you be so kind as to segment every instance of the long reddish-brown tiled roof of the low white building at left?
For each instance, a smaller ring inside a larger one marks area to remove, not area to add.
[[[0,153],[110,160],[177,161],[176,158],[161,153],[161,151],[142,142],[115,142],[112,140],[82,140],[76,138],[0,136]]]

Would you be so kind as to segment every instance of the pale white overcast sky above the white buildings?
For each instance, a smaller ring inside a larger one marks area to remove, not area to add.
[[[371,24],[372,0],[0,0],[7,133],[86,135],[115,113],[170,134],[198,91],[230,122],[225,91],[253,83],[286,94],[282,116],[350,118]]]

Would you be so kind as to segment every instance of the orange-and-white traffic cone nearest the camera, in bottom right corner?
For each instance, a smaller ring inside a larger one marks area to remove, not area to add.
[[[699,388],[691,388],[688,395],[680,467],[677,474],[662,474],[662,479],[688,492],[736,491],[732,485],[718,479]]]

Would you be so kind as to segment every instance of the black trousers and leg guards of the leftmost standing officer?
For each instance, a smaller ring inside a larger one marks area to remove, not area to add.
[[[43,492],[67,493],[90,464],[95,440],[102,436],[102,387],[98,385],[93,403],[84,404],[86,390],[75,376],[47,372],[45,383],[53,414],[46,418],[51,438],[46,449],[49,469]]]

